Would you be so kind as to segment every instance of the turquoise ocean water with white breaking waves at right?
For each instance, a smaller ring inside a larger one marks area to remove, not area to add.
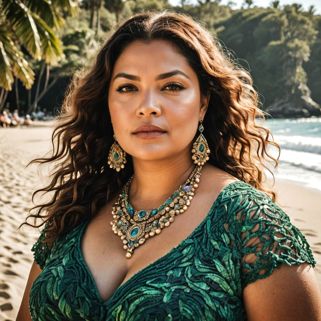
[[[275,179],[321,192],[321,117],[267,119],[265,126],[281,147]],[[278,154],[273,147],[268,151]]]

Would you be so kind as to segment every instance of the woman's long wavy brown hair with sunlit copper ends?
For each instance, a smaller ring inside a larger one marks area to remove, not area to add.
[[[43,241],[53,242],[93,216],[132,176],[130,155],[127,154],[125,169],[120,172],[107,163],[114,133],[106,108],[106,88],[121,52],[135,40],[149,43],[154,39],[173,43],[197,74],[201,95],[211,91],[203,120],[203,134],[211,150],[208,162],[275,201],[275,192],[264,186],[264,168],[273,175],[265,162],[275,162],[276,168],[279,156],[275,159],[270,155],[267,146],[274,145],[279,155],[280,147],[273,137],[269,140],[271,132],[264,126],[267,114],[258,107],[260,102],[250,74],[226,55],[218,39],[190,15],[172,9],[143,10],[112,33],[89,68],[73,75],[61,113],[55,120],[52,155],[46,157],[46,154],[27,165],[56,164],[56,171],[49,176],[51,182],[33,193],[32,202],[39,192],[52,193],[52,198],[32,207],[30,211],[37,209],[36,213],[29,211],[19,229],[23,224],[39,228],[48,223]],[[257,118],[263,122],[258,123]],[[29,217],[34,218],[34,225],[27,222]],[[39,225],[37,218],[42,219]]]

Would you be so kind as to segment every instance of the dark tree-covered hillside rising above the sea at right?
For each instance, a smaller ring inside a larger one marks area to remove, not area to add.
[[[306,88],[309,76],[317,80],[320,75],[316,59],[320,28],[315,23],[320,16],[301,12],[298,5],[287,5],[283,10],[276,7],[274,3],[273,8],[239,10],[214,24],[218,38],[242,58],[239,64],[249,67],[254,85],[264,97],[264,108],[275,101],[306,94],[302,88]],[[311,59],[311,47],[315,49],[312,61],[318,77],[312,64],[308,65],[309,71],[304,67]],[[314,97],[321,103],[320,97]]]

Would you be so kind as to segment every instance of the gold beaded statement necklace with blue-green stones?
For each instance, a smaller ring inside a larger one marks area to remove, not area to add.
[[[181,185],[164,204],[153,210],[135,211],[128,200],[128,187],[134,174],[124,185],[122,194],[114,204],[110,222],[112,230],[123,240],[126,257],[130,258],[133,250],[144,244],[150,236],[159,234],[161,229],[168,227],[174,221],[174,216],[184,213],[194,196],[195,188],[200,181],[202,166],[196,165],[186,182]]]

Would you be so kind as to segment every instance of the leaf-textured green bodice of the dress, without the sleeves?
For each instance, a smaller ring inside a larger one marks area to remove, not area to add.
[[[210,217],[202,221],[177,247],[122,282],[106,301],[81,255],[84,229],[77,230],[65,244],[56,244],[31,288],[33,319],[54,313],[53,320],[165,320],[169,315],[243,320],[239,263],[219,236],[223,231],[214,233],[217,226],[211,222]]]

